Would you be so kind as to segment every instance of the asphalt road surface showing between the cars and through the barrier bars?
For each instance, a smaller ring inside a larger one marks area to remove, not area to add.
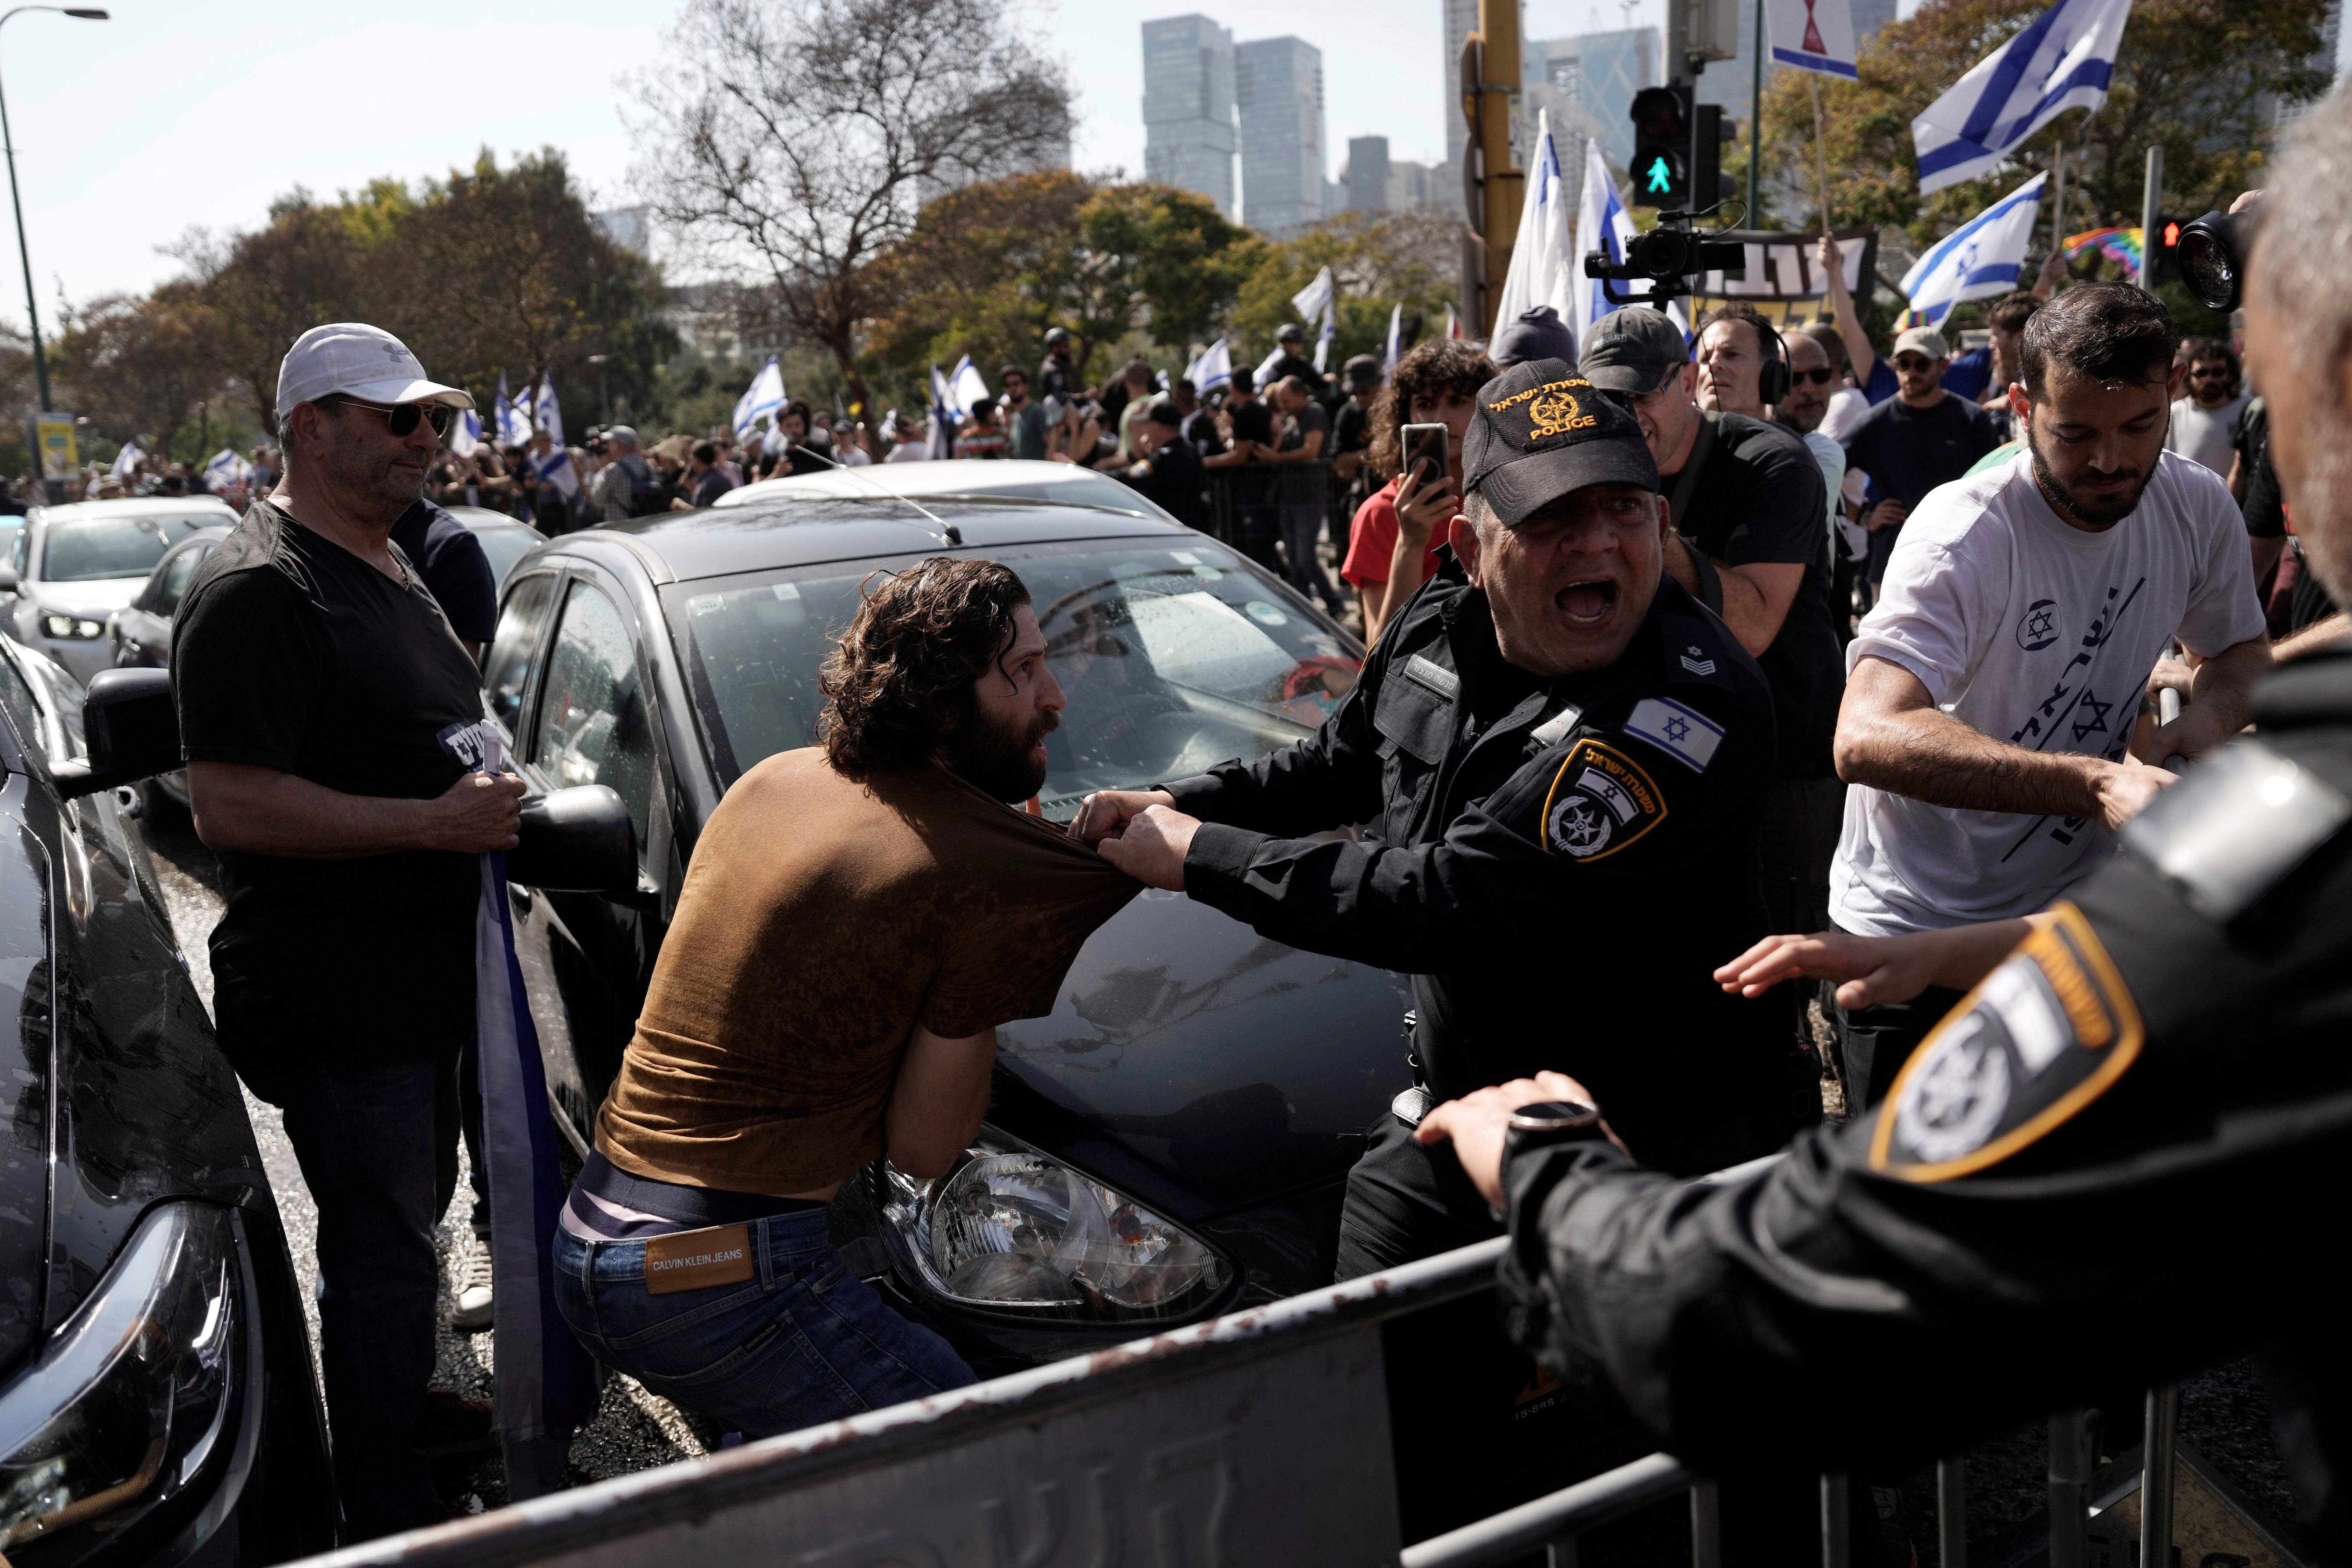
[[[172,910],[172,926],[179,931],[181,950],[195,985],[212,1006],[212,964],[205,938],[221,917],[219,877],[207,851],[186,827],[146,825],[148,849],[155,872],[162,879],[165,900]],[[1835,1086],[1832,1086],[1835,1088]],[[261,1145],[261,1161],[268,1166],[270,1185],[278,1192],[278,1208],[285,1215],[287,1241],[294,1248],[299,1279],[318,1274],[318,1208],[303,1187],[294,1150],[287,1145],[278,1112],[247,1095],[247,1112],[254,1119],[254,1138]],[[1830,1105],[1837,1114],[1842,1105]],[[459,1152],[463,1161],[463,1150]],[[473,1248],[466,1220],[466,1180],[459,1175],[459,1199],[452,1204],[452,1225],[440,1225],[437,1241],[442,1255],[442,1305],[454,1305],[454,1279],[463,1262],[463,1251]],[[2096,1246],[2096,1237],[2084,1239]],[[310,1314],[310,1352],[318,1354],[318,1309],[306,1298]],[[440,1354],[435,1387],[454,1389],[468,1399],[489,1399],[492,1335],[461,1335],[440,1331]],[[1867,1368],[1849,1368],[1842,1375],[1870,1375]],[[2133,1434],[2136,1436],[2136,1434]],[[2183,1380],[2180,1389],[2180,1436],[2197,1446],[2213,1467],[2232,1481],[2270,1521],[2293,1521],[2293,1490],[2279,1465],[2270,1434],[2270,1401],[2249,1361],[2232,1361],[2197,1378]],[[604,1387],[604,1401],[595,1420],[572,1443],[572,1479],[602,1481],[607,1476],[633,1474],[701,1455],[717,1434],[689,1420],[670,1401],[649,1394],[630,1378],[614,1375]],[[2013,1544],[2016,1530],[2042,1512],[2046,1500],[2044,1476],[2049,1446],[2042,1422],[2030,1422],[2004,1439],[1969,1453],[1969,1537],[1971,1556],[1992,1561],[1999,1547]],[[1936,1486],[1933,1472],[1915,1476],[1872,1476],[1879,1486],[1903,1493],[1903,1533],[1910,1535],[1924,1568],[1936,1566]],[[506,1476],[496,1455],[482,1460],[456,1460],[440,1474],[442,1495],[452,1507],[475,1512],[506,1502]],[[1679,1509],[1682,1505],[1672,1505]],[[1672,1512],[1672,1509],[1668,1509]],[[1672,1523],[1672,1521],[1665,1521]],[[1595,1540],[1595,1561],[1616,1561],[1611,1544],[1632,1547],[1630,1561],[1651,1559],[1649,1530],[1635,1530],[1625,1542]]]

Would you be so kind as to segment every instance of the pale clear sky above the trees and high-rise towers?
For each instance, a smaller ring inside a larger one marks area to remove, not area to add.
[[[1907,14],[1915,0],[1903,0]],[[374,176],[421,179],[557,146],[600,207],[628,205],[621,122],[633,63],[661,59],[677,0],[567,0],[459,12],[341,0],[115,0],[113,21],[28,12],[0,33],[16,174],[45,320],[169,277],[191,226],[252,228],[270,197],[334,195]],[[1242,0],[1030,0],[1028,26],[1070,61],[1080,169],[1143,165],[1148,16],[1200,9],[1235,38],[1294,31],[1324,52],[1331,174],[1350,136],[1395,158],[1444,153],[1439,0],[1279,7]],[[1526,0],[1529,33],[1658,26],[1663,0]],[[1284,26],[1287,24],[1287,26]],[[0,320],[24,320],[0,256]]]

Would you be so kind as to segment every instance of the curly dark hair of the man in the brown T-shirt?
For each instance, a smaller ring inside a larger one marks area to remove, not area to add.
[[[826,759],[844,778],[931,757],[971,722],[971,684],[1011,642],[1028,588],[997,562],[936,555],[875,571],[816,675]]]

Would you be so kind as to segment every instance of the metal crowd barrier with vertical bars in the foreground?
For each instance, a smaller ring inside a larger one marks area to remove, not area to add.
[[[1708,1180],[1743,1180],[1755,1161]],[[1715,1483],[1668,1453],[1402,1544],[1381,1328],[1494,1288],[1505,1241],[936,1399],[727,1448],[308,1559],[310,1568],[1477,1568],[1548,1552],[1677,1493],[1717,1568]],[[2147,1396],[2143,1563],[2171,1561],[2176,1389]],[[2051,1418],[2049,1563],[2086,1568],[2091,1450]],[[1936,1467],[1945,1568],[1966,1568],[1966,1474]],[[1820,1481],[1820,1561],[1849,1563],[1846,1476]],[[2152,1549],[2164,1542],[2161,1549]],[[1792,1559],[1795,1561],[1795,1559]]]

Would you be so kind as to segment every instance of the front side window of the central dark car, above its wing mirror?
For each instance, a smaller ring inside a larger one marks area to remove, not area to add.
[[[564,592],[529,755],[557,790],[612,785],[628,802],[642,853],[654,799],[654,731],[628,625],[593,583],[572,583]]]

